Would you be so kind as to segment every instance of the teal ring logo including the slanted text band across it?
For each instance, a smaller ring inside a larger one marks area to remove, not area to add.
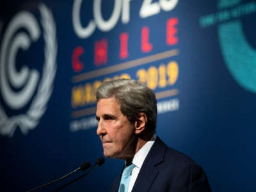
[[[256,93],[256,50],[248,43],[241,21],[241,17],[256,12],[256,3],[220,0],[218,9],[219,12],[200,17],[200,26],[218,24],[221,52],[228,70],[241,87]]]

